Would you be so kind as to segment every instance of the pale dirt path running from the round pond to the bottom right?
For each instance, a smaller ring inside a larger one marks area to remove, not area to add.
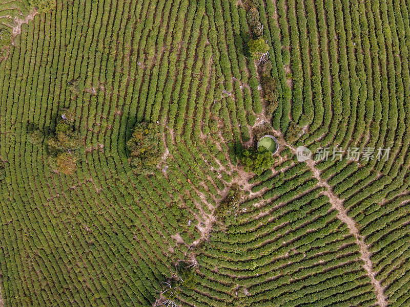
[[[292,147],[286,143],[283,139],[283,135],[275,130],[275,133],[280,137],[279,144],[282,146],[289,147],[294,153],[296,153],[296,148]],[[376,272],[373,270],[373,263],[371,260],[371,253],[368,250],[368,245],[364,243],[363,237],[360,235],[360,231],[357,228],[355,220],[347,215],[347,211],[343,206],[343,200],[339,199],[331,189],[331,186],[320,177],[320,170],[315,167],[315,161],[312,159],[306,160],[306,164],[312,170],[313,176],[319,181],[318,185],[325,187],[326,190],[323,192],[329,197],[329,202],[332,204],[332,208],[336,209],[339,213],[337,217],[340,221],[345,223],[350,230],[350,233],[356,238],[356,244],[359,246],[359,252],[361,254],[360,258],[364,261],[363,268],[366,270],[367,276],[370,278],[373,287],[376,292],[377,303],[380,307],[387,307],[386,296],[384,295],[384,288],[381,286],[380,282],[376,279]]]

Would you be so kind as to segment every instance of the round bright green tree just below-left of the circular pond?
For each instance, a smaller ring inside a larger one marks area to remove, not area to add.
[[[259,146],[258,149],[251,147],[244,150],[239,159],[245,171],[252,171],[257,175],[271,168],[275,162],[272,152],[263,146]]]

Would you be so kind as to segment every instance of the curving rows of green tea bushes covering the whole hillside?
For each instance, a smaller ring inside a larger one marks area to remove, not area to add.
[[[389,304],[408,305],[409,1],[57,4],[22,24],[0,65],[5,306],[150,306],[175,259],[194,258],[195,287],[165,293],[178,305],[376,305],[355,237],[289,148],[273,171],[230,179],[241,145],[274,135],[260,124],[271,114],[311,149],[392,146],[386,163],[315,168],[357,223]],[[5,32],[31,10],[0,6]],[[245,56],[260,35],[272,49],[256,67]],[[124,161],[134,121],[163,124],[170,159],[149,178]],[[51,146],[33,148],[26,123],[51,133]],[[70,164],[77,130],[91,150]],[[75,176],[50,173],[46,154]],[[224,205],[229,182],[249,199],[227,205],[204,240],[198,220]]]

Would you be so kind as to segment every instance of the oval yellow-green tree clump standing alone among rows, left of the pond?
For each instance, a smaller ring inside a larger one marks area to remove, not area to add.
[[[129,161],[133,170],[142,175],[154,172],[160,161],[159,128],[153,123],[136,124],[127,142]]]

